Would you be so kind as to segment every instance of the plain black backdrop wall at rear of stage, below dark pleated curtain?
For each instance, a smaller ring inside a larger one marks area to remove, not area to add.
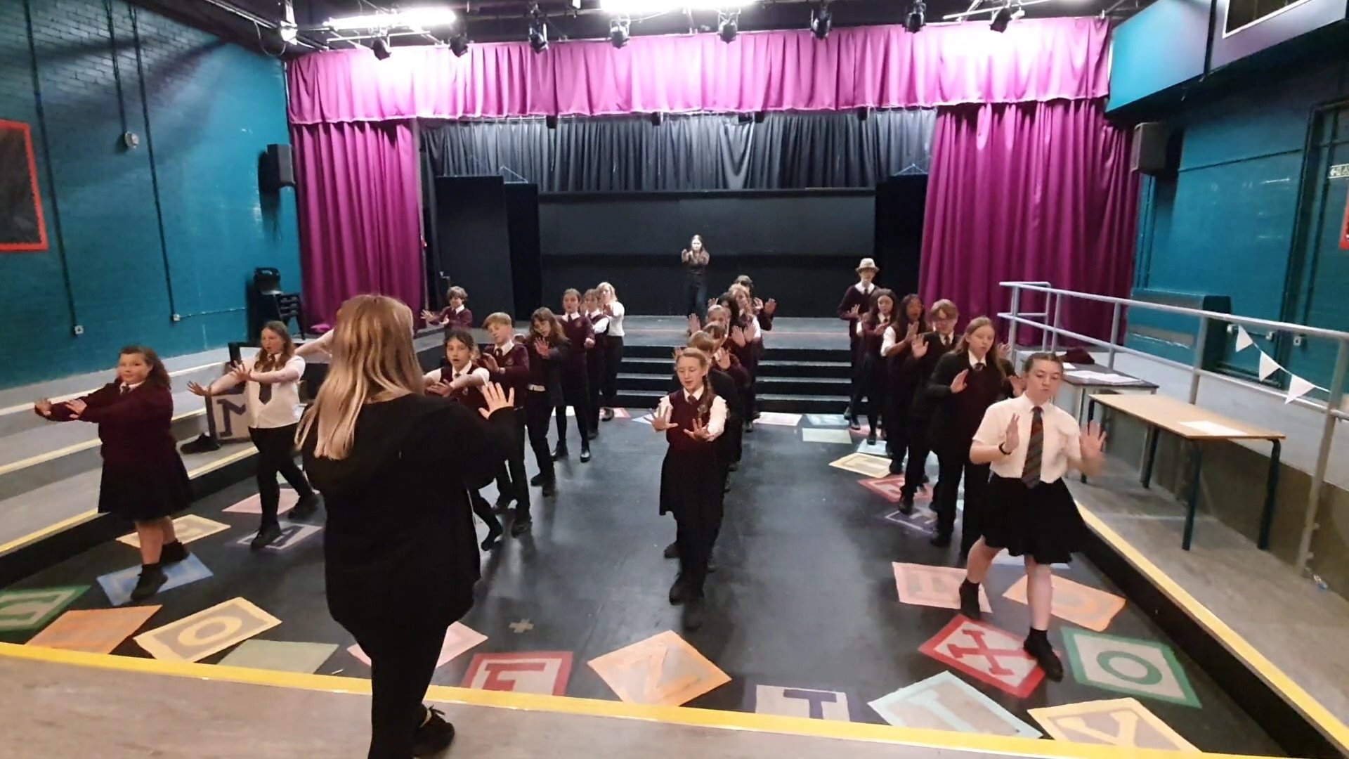
[[[544,194],[544,303],[610,281],[629,313],[677,315],[679,254],[701,234],[710,294],[749,274],[778,313],[832,316],[858,259],[874,254],[874,215],[876,192],[858,189]]]

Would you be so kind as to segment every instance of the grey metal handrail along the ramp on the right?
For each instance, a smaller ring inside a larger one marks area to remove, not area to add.
[[[1237,316],[1234,313],[1222,313],[1217,311],[1205,311],[1199,308],[1184,308],[1180,305],[1164,305],[1159,303],[1147,303],[1130,298],[1121,298],[1113,296],[1098,296],[1095,293],[1083,293],[1078,290],[1066,290],[1055,288],[1051,282],[1033,281],[1033,282],[998,282],[1001,288],[1009,288],[1012,290],[1012,309],[1008,312],[1000,312],[998,317],[1005,319],[1009,324],[1008,327],[1008,342],[1016,344],[1016,328],[1017,325],[1033,327],[1041,331],[1041,350],[1058,350],[1059,336],[1072,338],[1075,340],[1082,340],[1085,343],[1103,347],[1108,351],[1108,366],[1114,367],[1114,357],[1118,352],[1126,355],[1136,355],[1148,361],[1157,362],[1164,366],[1171,366],[1175,369],[1183,369],[1190,371],[1190,402],[1194,404],[1199,396],[1199,380],[1221,380],[1233,385],[1240,385],[1242,388],[1253,389],[1256,392],[1264,393],[1267,396],[1286,398],[1286,393],[1272,390],[1264,385],[1256,382],[1249,382],[1237,377],[1229,377],[1226,374],[1219,374],[1217,371],[1210,371],[1203,367],[1203,354],[1205,342],[1209,334],[1209,320],[1218,320],[1229,324],[1241,324],[1244,327],[1257,327],[1261,330],[1273,330],[1280,332],[1292,332],[1295,335],[1311,336],[1311,338],[1325,338],[1336,340],[1340,346],[1336,351],[1336,369],[1331,374],[1330,392],[1326,402],[1319,402],[1306,397],[1295,398],[1294,404],[1302,408],[1310,408],[1319,412],[1323,416],[1321,428],[1321,446],[1317,448],[1317,462],[1311,473],[1311,489],[1307,493],[1307,505],[1303,512],[1302,535],[1298,540],[1298,569],[1302,571],[1309,570],[1309,563],[1311,560],[1311,539],[1313,533],[1319,527],[1319,512],[1321,512],[1321,493],[1326,482],[1326,470],[1330,466],[1330,448],[1334,444],[1336,423],[1341,420],[1349,420],[1349,413],[1346,413],[1344,407],[1345,396],[1345,374],[1349,373],[1349,332],[1342,332],[1340,330],[1326,330],[1322,327],[1310,327],[1307,324],[1295,324],[1291,321],[1275,321],[1272,319],[1256,319],[1251,316]],[[1041,293],[1045,296],[1045,309],[1040,313],[1025,313],[1020,311],[1021,293]],[[1090,335],[1083,335],[1081,332],[1074,332],[1059,325],[1059,317],[1063,312],[1063,298],[1078,298],[1095,303],[1108,303],[1114,305],[1114,313],[1110,321],[1110,339],[1101,340]],[[1051,308],[1052,307],[1052,308]],[[1159,355],[1152,355],[1147,351],[1140,351],[1137,348],[1130,348],[1122,344],[1120,339],[1120,321],[1125,308],[1143,308],[1148,311],[1160,311],[1164,313],[1179,313],[1183,316],[1191,316],[1199,320],[1199,331],[1194,340],[1194,359],[1190,365],[1179,361],[1172,361]],[[1052,324],[1050,323],[1050,315],[1054,315]],[[1036,321],[1031,317],[1043,317],[1044,321]]]

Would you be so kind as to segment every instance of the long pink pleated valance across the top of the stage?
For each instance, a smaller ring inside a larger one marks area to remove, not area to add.
[[[715,34],[554,43],[314,53],[287,68],[290,123],[633,112],[931,108],[1103,97],[1109,22],[1023,19],[987,24]]]

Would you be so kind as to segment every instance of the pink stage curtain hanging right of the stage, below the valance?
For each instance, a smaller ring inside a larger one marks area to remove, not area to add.
[[[920,289],[962,320],[1010,307],[1000,281],[1128,297],[1139,186],[1103,100],[960,105],[938,113]],[[1043,298],[1023,311],[1044,311]],[[1106,338],[1112,308],[1064,301],[1062,325]],[[1005,334],[1002,324],[1000,334]],[[1017,327],[1023,344],[1040,331]]]

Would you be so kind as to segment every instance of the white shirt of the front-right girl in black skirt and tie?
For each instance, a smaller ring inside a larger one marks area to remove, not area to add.
[[[983,421],[979,423],[974,442],[983,446],[1000,446],[1006,440],[1008,424],[1012,417],[1017,417],[1017,432],[1021,439],[1010,455],[993,462],[993,474],[1020,479],[1025,469],[1025,454],[1031,447],[1031,421],[1035,404],[1031,398],[1009,398],[998,401],[983,412]],[[1068,471],[1068,458],[1078,458],[1082,448],[1082,431],[1078,420],[1062,408],[1047,402],[1041,409],[1041,423],[1044,424],[1044,447],[1040,450],[1040,482],[1056,482]]]

